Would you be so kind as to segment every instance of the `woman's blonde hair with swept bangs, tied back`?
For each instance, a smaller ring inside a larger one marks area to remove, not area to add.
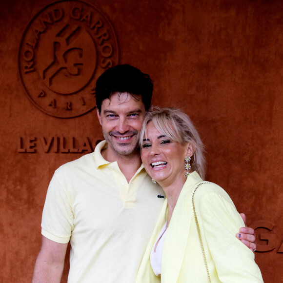
[[[140,145],[142,147],[143,137],[146,137],[146,125],[152,121],[158,131],[173,142],[185,144],[190,142],[194,148],[191,157],[192,171],[197,171],[201,178],[205,175],[204,146],[200,135],[191,119],[179,109],[154,107],[146,113],[142,124]]]

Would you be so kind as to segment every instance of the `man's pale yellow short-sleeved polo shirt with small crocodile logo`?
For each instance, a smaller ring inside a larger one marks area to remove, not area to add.
[[[132,283],[163,199],[143,165],[128,183],[117,162],[93,153],[62,165],[49,184],[41,233],[71,243],[69,283]]]

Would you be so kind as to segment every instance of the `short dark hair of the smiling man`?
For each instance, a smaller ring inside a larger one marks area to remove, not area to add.
[[[149,75],[143,74],[131,65],[117,65],[106,70],[97,80],[95,87],[96,106],[101,113],[101,104],[109,99],[113,92],[127,92],[137,99],[142,96],[144,108],[147,111],[151,104],[153,82]]]

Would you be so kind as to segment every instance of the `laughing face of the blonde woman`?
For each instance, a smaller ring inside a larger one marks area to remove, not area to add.
[[[173,142],[162,135],[154,123],[150,121],[146,126],[147,139],[142,142],[142,163],[152,179],[162,187],[175,183],[184,183],[187,144]]]

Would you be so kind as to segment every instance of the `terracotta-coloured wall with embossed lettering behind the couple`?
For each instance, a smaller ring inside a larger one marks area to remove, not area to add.
[[[1,282],[30,282],[48,183],[102,139],[93,87],[118,62],[195,121],[206,179],[257,228],[264,282],[283,282],[282,1],[0,0],[0,28]]]

